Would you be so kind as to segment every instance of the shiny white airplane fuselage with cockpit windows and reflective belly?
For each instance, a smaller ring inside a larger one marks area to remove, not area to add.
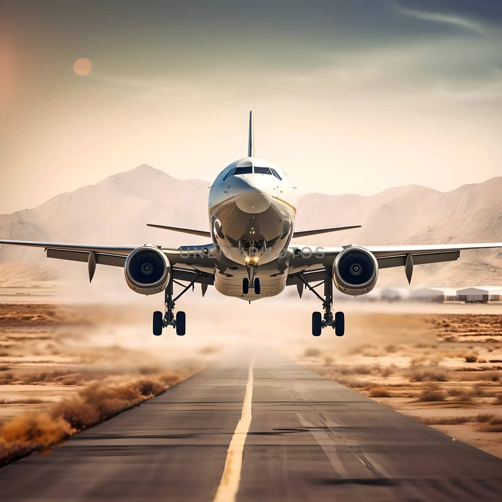
[[[280,168],[245,157],[223,169],[209,192],[211,238],[221,256],[216,289],[244,300],[279,294],[286,286],[286,249],[295,218],[296,188]],[[250,268],[260,278],[260,295],[242,294]]]

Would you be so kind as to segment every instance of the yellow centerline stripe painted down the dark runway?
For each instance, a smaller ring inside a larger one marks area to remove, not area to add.
[[[225,467],[213,502],[234,502],[239,489],[242,454],[246,442],[247,431],[251,423],[251,404],[253,400],[253,364],[249,364],[246,393],[242,403],[240,420],[235,427],[226,453]]]

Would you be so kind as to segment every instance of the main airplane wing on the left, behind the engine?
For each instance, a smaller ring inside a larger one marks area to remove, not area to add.
[[[85,263],[89,263],[93,259],[95,264],[112,267],[123,267],[129,254],[137,247],[140,247],[140,245],[74,244],[2,239],[0,239],[0,244],[43,247],[47,253],[47,258]],[[211,263],[214,258],[210,253],[214,248],[212,243],[203,246],[183,246],[178,248],[158,247],[166,254],[173,266],[173,279],[213,285],[214,274],[210,272],[214,270]],[[207,250],[207,253],[205,253],[205,250]],[[92,279],[92,275],[89,275],[90,279]]]

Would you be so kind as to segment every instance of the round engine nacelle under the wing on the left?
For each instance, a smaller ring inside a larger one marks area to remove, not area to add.
[[[124,274],[128,286],[141,295],[153,295],[166,289],[171,264],[166,255],[152,244],[137,247],[126,260]]]

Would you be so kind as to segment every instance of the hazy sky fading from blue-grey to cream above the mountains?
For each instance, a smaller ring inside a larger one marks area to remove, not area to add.
[[[250,109],[300,193],[500,176],[501,42],[491,0],[3,0],[0,213],[143,163],[212,181]]]

